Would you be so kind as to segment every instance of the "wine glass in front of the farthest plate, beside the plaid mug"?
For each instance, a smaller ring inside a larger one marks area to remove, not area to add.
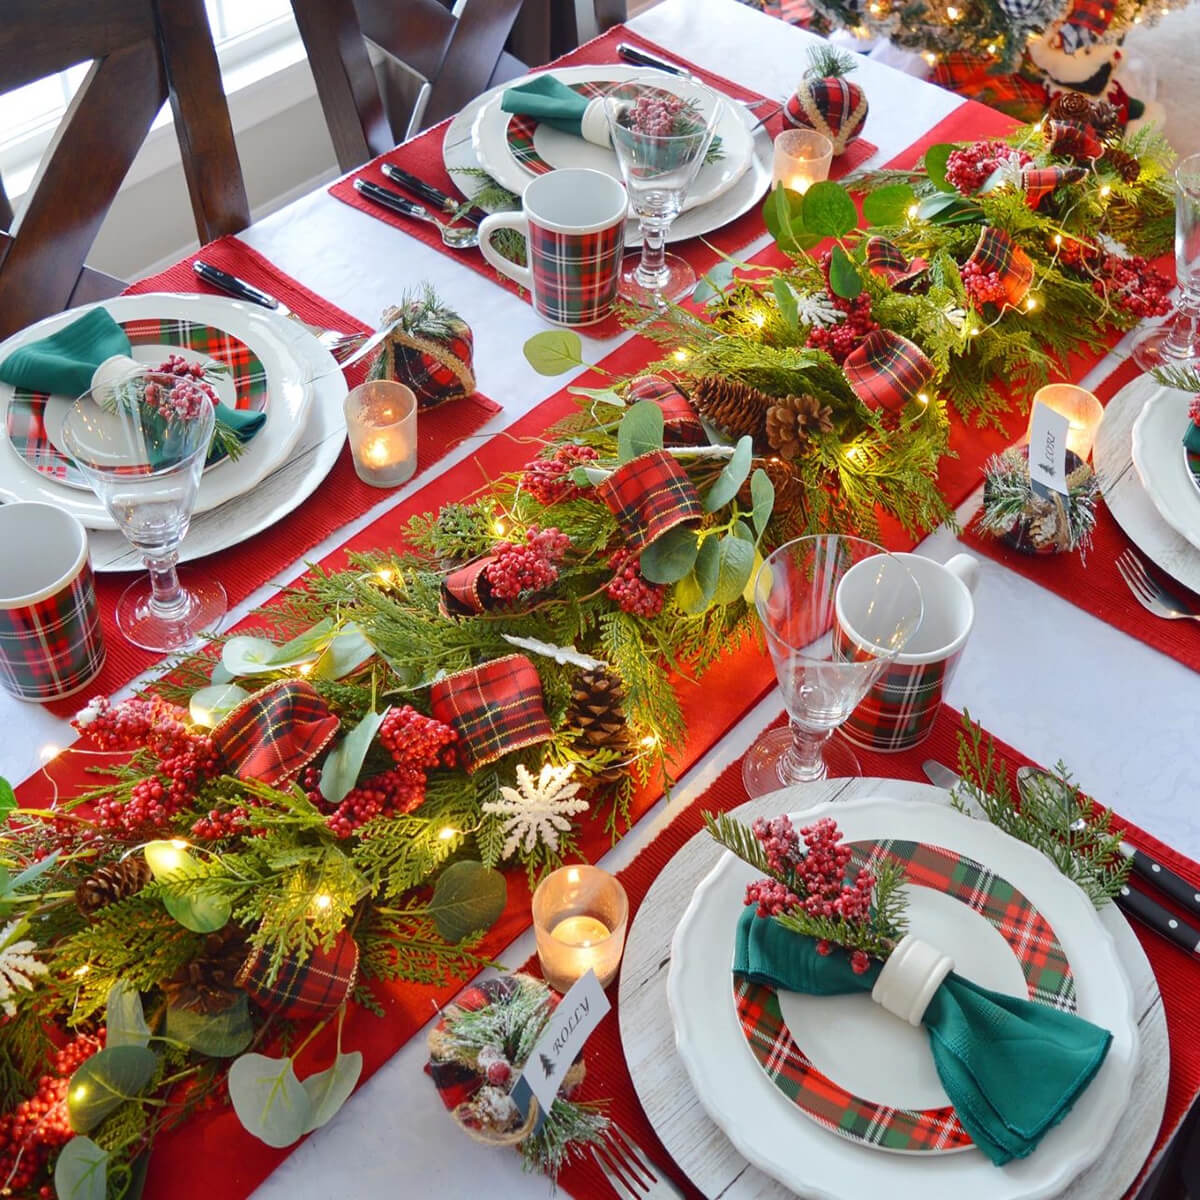
[[[666,236],[725,110],[712,89],[688,80],[680,96],[678,86],[671,76],[643,74],[605,95],[612,148],[642,232],[641,254],[622,265],[620,295],[647,307],[661,307],[696,286],[691,266],[666,252]]]

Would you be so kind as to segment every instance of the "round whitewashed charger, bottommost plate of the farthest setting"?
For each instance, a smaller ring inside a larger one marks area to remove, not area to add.
[[[569,67],[566,70],[581,68]],[[442,161],[450,178],[454,180],[455,187],[467,199],[474,199],[487,186],[485,180],[475,175],[463,174],[463,172],[485,169],[472,143],[470,134],[475,118],[486,103],[497,97],[508,86],[511,86],[511,84],[502,84],[499,88],[485,91],[481,96],[473,100],[450,121],[443,137]],[[734,104],[733,107],[738,118],[745,125],[746,130],[750,131],[757,122],[757,116],[743,104]],[[770,188],[772,157],[774,154],[773,143],[770,134],[761,126],[754,130],[752,137],[754,155],[746,170],[737,182],[712,203],[701,204],[676,217],[667,230],[667,242],[686,241],[689,238],[698,238],[703,234],[713,233],[715,229],[727,226],[731,221],[736,221],[744,212],[749,212],[767,194]],[[528,178],[526,179],[526,184],[528,184]],[[516,188],[516,191],[520,193],[523,186]],[[636,248],[641,244],[642,234],[637,221],[628,221],[625,223],[626,250]]]

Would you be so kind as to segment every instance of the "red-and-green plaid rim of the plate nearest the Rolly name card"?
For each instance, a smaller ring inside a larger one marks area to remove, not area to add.
[[[914,841],[852,842],[852,870],[890,858],[907,882],[954,896],[1008,942],[1030,1000],[1073,1013],[1075,980],[1049,922],[1002,876],[972,858]],[[971,1136],[954,1109],[896,1109],[854,1096],[822,1074],[784,1020],[774,989],[734,978],[733,998],[746,1045],[770,1081],[830,1133],[860,1145],[906,1153],[968,1150]]]

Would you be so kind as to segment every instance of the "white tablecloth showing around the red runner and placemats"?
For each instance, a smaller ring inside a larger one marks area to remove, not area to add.
[[[806,48],[816,41],[736,0],[665,0],[630,24],[680,58],[780,101],[796,86]],[[856,79],[870,102],[865,136],[877,146],[868,166],[893,158],[962,103],[948,91],[866,59]],[[470,324],[480,389],[502,412],[424,475],[422,485],[569,382],[535,373],[522,355],[526,338],[546,328],[523,299],[341,203],[325,187],[256,222],[241,236],[307,288],[372,325],[388,305],[422,281]],[[749,256],[768,241],[762,232],[742,252]],[[1085,386],[1127,356],[1128,341],[1082,380]],[[590,361],[620,344],[587,336],[583,343]],[[228,624],[301,576],[306,562],[336,550],[396,508],[410,491],[382,493],[372,511],[337,529],[238,605]],[[336,494],[317,494],[329,505],[338,503]],[[960,520],[977,505],[978,496],[964,505]],[[920,544],[918,553],[946,560],[962,548],[952,530],[941,529]],[[1098,800],[1181,853],[1200,858],[1200,808],[1190,786],[1200,676],[992,559],[980,563],[976,598],[976,628],[948,701],[970,709],[989,731],[1031,758],[1063,760],[1080,787]],[[1146,614],[1147,622],[1153,619]],[[684,775],[670,803],[660,802],[601,865],[616,870],[630,862],[780,709],[778,691],[755,707]],[[6,696],[0,696],[0,775],[14,784],[36,772],[54,748],[73,739],[60,718]],[[509,947],[503,962],[517,965],[532,950],[527,932]],[[290,1153],[254,1196],[551,1195],[547,1180],[522,1172],[518,1156],[478,1145],[452,1126],[422,1075],[425,1058],[424,1037],[409,1040],[334,1121]]]

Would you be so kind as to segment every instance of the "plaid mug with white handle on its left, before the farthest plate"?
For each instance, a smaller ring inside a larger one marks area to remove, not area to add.
[[[600,170],[564,168],[524,190],[521,212],[493,212],[479,226],[479,248],[502,275],[533,294],[556,325],[590,325],[612,311],[625,250],[625,188]],[[528,266],[492,245],[499,229],[524,235]]]

